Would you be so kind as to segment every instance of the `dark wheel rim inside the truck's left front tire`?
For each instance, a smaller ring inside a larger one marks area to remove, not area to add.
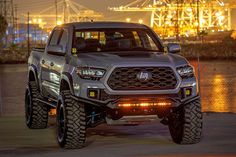
[[[58,111],[58,140],[61,142],[65,136],[65,116],[64,116],[64,107],[63,105],[60,106]]]

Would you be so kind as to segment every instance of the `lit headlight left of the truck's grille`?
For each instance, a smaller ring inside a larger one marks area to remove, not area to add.
[[[100,79],[105,74],[104,69],[90,68],[90,67],[78,67],[77,74],[83,79]]]

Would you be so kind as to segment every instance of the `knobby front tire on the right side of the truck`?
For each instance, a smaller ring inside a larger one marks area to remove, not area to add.
[[[202,136],[201,101],[196,99],[169,117],[169,130],[177,144],[195,144]]]

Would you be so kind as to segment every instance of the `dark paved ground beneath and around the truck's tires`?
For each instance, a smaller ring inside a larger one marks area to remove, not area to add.
[[[196,145],[174,144],[168,128],[158,121],[140,126],[101,125],[88,130],[86,145],[81,150],[62,150],[55,140],[54,125],[45,130],[29,130],[22,117],[0,118],[0,156],[233,157],[236,156],[236,115],[204,114],[203,140]]]

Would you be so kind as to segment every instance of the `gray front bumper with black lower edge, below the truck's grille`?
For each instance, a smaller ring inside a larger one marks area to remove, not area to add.
[[[139,101],[139,98],[147,98],[150,102],[155,102],[155,99],[168,100],[172,102],[172,107],[178,107],[180,104],[191,100],[198,96],[198,86],[196,78],[181,80],[180,85],[174,90],[142,90],[142,91],[110,91],[101,81],[87,81],[77,87],[74,84],[74,98],[86,104],[108,107],[114,109],[117,104],[124,99]],[[186,96],[186,89],[191,90],[191,94]],[[97,91],[98,96],[91,98],[89,91]]]

